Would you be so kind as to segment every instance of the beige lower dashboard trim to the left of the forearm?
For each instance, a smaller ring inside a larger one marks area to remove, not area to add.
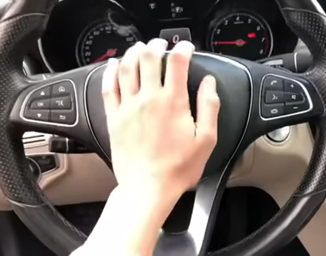
[[[29,147],[26,155],[48,153],[48,146]],[[39,184],[54,205],[106,201],[116,179],[96,154],[58,154],[60,167],[45,173]],[[0,191],[0,210],[10,210]]]

